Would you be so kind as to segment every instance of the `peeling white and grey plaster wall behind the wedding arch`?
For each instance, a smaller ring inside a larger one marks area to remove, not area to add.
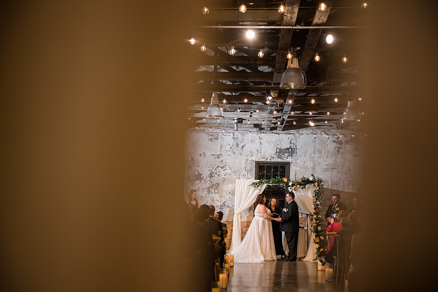
[[[215,205],[223,211],[223,221],[232,225],[236,179],[254,179],[255,161],[288,161],[290,179],[313,173],[325,180],[325,188],[331,190],[323,193],[323,207],[337,190],[350,208],[361,176],[360,139],[189,131],[185,193],[197,190],[200,204]],[[245,211],[242,222],[251,222],[252,215],[251,210]]]

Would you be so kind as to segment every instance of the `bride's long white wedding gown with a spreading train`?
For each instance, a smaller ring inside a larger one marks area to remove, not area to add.
[[[266,208],[266,212],[271,215],[268,208]],[[235,263],[264,263],[265,260],[277,260],[272,222],[265,219],[258,208],[254,211],[254,219],[242,243],[231,253],[234,254]]]

